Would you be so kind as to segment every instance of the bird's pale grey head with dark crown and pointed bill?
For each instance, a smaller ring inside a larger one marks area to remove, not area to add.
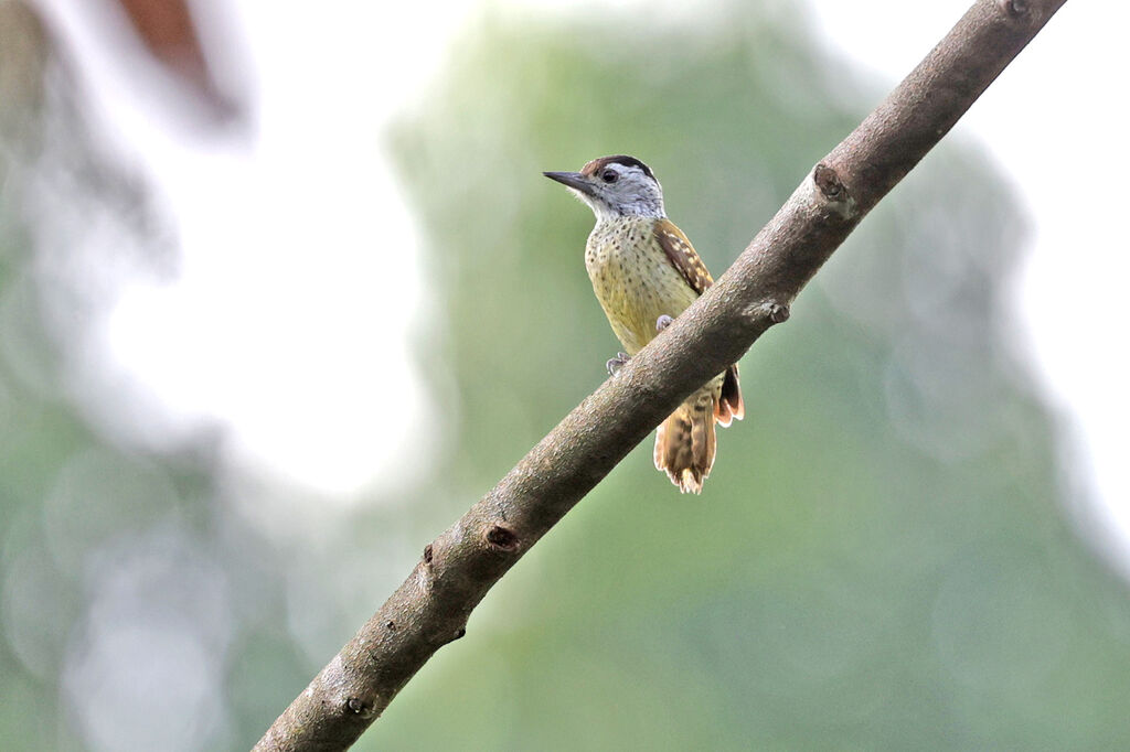
[[[579,173],[542,173],[564,184],[592,208],[597,219],[664,217],[663,189],[651,168],[635,157],[593,159]]]

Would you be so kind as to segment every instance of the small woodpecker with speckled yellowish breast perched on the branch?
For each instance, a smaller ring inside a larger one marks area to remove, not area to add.
[[[547,172],[597,218],[584,265],[612,332],[624,346],[610,375],[670,325],[714,279],[687,236],[667,218],[663,189],[627,155],[589,161],[581,172]],[[680,404],[655,434],[655,467],[683,493],[701,493],[718,448],[714,423],[745,417],[738,366],[731,365]]]

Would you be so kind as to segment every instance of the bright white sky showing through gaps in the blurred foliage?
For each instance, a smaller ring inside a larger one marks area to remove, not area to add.
[[[510,1],[545,12],[605,7]],[[227,423],[237,465],[331,498],[356,498],[376,478],[386,486],[424,470],[412,447],[436,446],[441,418],[408,346],[428,336],[429,298],[414,262],[416,228],[377,134],[440,70],[476,6],[325,0],[314,11],[310,3],[232,0],[258,87],[259,135],[247,148],[225,149],[155,116],[147,81],[92,37],[99,3],[42,5],[84,50],[94,100],[181,222],[181,278],[134,285],[107,322],[114,378],[141,385],[169,426]],[[694,15],[686,2],[612,5],[653,17]],[[894,85],[968,0],[798,5],[812,9],[831,49]],[[775,12],[792,12],[791,3],[780,0]],[[1127,132],[1128,26],[1124,3],[1068,2],[957,129],[989,145],[1035,226],[1016,301],[1045,386],[1077,430],[1083,482],[1102,501],[1098,526],[1121,531],[1121,540],[1130,540],[1121,303],[1130,248],[1114,222],[1102,221],[1107,202],[1095,201],[1125,190],[1109,157],[1119,158]],[[398,285],[384,281],[393,257]]]

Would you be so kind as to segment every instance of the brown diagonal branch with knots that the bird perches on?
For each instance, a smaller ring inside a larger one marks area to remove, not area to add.
[[[344,750],[487,591],[688,394],[789,316],[801,288],[1066,0],[977,0],[805,178],[716,285],[558,423],[421,561],[255,750]]]

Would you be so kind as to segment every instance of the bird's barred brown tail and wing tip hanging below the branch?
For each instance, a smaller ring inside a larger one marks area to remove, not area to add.
[[[676,408],[655,432],[655,467],[684,493],[701,493],[718,451],[714,421],[729,426],[745,417],[738,367],[713,379]]]

